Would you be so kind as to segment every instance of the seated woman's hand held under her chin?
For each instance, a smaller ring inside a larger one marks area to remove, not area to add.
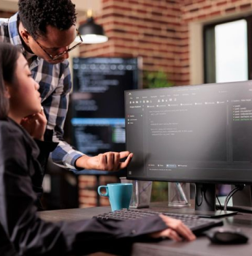
[[[44,140],[45,127],[47,118],[43,108],[37,114],[26,116],[22,119],[21,125],[31,135],[32,138],[37,140]]]

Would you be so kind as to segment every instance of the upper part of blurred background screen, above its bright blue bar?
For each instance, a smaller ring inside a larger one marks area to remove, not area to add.
[[[74,58],[72,116],[123,118],[124,91],[139,89],[140,59]]]

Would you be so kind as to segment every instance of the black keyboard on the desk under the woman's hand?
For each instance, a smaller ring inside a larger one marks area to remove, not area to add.
[[[161,211],[143,211],[135,209],[122,209],[120,211],[112,211],[104,214],[99,214],[95,216],[97,219],[113,219],[117,221],[127,220],[127,219],[140,219],[144,217],[150,217],[156,214],[164,214],[165,216],[172,217],[175,219],[180,219],[185,225],[187,225],[191,231],[198,235],[205,230],[210,229],[211,227],[223,225],[221,219],[205,219],[196,215],[188,214],[172,214]]]

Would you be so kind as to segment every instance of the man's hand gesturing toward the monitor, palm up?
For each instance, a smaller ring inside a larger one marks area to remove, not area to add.
[[[125,158],[124,162],[121,159]],[[76,160],[75,165],[89,170],[121,170],[129,165],[133,154],[129,151],[107,152],[96,157],[83,156]]]

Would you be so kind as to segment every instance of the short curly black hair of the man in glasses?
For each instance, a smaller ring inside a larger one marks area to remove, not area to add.
[[[70,0],[19,0],[18,7],[20,20],[34,39],[45,36],[48,25],[66,30],[76,23]]]

